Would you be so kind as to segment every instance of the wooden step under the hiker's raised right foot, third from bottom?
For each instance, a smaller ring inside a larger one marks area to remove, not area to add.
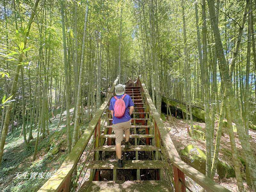
[[[132,145],[129,149],[124,149],[124,145],[121,146],[122,151],[161,151],[160,148],[157,148],[153,145]],[[116,151],[115,145],[103,145],[98,148],[94,148],[94,151]]]

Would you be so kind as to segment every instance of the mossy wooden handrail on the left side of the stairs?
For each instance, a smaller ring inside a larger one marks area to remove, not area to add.
[[[44,185],[38,190],[39,192],[52,192],[60,191],[63,188],[63,185],[69,186],[70,176],[72,175],[74,168],[76,167],[84,149],[86,148],[89,140],[92,137],[92,134],[95,130],[95,127],[98,124],[100,117],[102,116],[105,108],[108,105],[109,100],[112,97],[112,94],[115,89],[115,85],[119,79],[117,76],[115,82],[113,83],[111,89],[108,91],[107,97],[104,103],[97,110],[96,114],[93,116],[90,121],[87,129],[84,130],[84,133],[77,141],[76,145],[72,148],[71,152],[68,154],[64,162],[61,164],[60,168],[50,177]],[[65,190],[64,190],[65,191]]]

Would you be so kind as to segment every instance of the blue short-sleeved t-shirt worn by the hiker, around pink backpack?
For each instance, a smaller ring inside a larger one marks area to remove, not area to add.
[[[116,95],[116,97],[119,99],[121,97],[123,97],[123,95]],[[114,97],[112,97],[112,99],[110,100],[110,104],[109,104],[109,110],[114,111],[114,106],[116,103],[116,99]],[[124,112],[124,116],[121,118],[115,117],[115,111],[114,111],[114,117],[113,117],[113,124],[117,124],[117,123],[123,123],[126,121],[129,121],[131,119],[130,113],[129,113],[129,108],[131,106],[134,106],[134,103],[132,101],[132,98],[130,95],[126,95],[124,97],[124,103],[125,103],[125,112]]]

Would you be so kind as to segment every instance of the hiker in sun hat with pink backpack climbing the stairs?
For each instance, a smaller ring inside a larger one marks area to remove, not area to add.
[[[123,158],[121,152],[121,142],[125,135],[125,149],[130,148],[129,142],[131,115],[134,103],[130,95],[124,94],[125,85],[118,84],[115,86],[116,96],[110,100],[109,110],[113,117],[113,130],[116,137],[116,156],[118,158],[118,166],[123,167]],[[129,109],[130,108],[130,109]],[[123,133],[124,132],[124,133]]]

